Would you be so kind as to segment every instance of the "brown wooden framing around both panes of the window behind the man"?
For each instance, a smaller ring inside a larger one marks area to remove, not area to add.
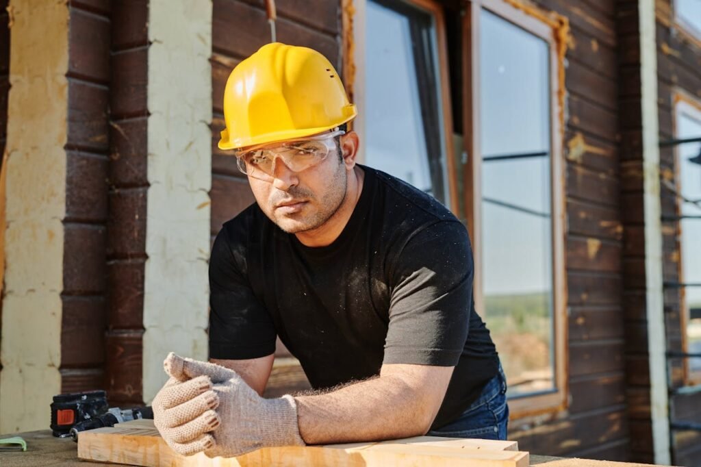
[[[510,419],[527,419],[543,414],[555,415],[565,410],[569,403],[569,381],[567,378],[569,351],[567,348],[567,282],[565,257],[565,191],[564,191],[564,55],[562,44],[557,38],[557,27],[539,18],[542,11],[526,11],[510,4],[509,0],[465,0],[465,15],[462,26],[462,62],[463,74],[463,147],[462,163],[458,164],[454,156],[453,123],[449,87],[449,69],[447,60],[447,38],[442,6],[436,0],[402,0],[425,9],[434,15],[437,37],[437,56],[440,63],[440,83],[444,116],[444,137],[447,139],[448,151],[445,169],[448,171],[450,208],[459,219],[467,219],[468,231],[472,240],[475,259],[475,306],[482,309],[482,278],[480,276],[480,248],[482,243],[479,229],[479,201],[475,194],[481,192],[479,177],[481,165],[471,154],[479,151],[479,67],[472,66],[472,57],[479,57],[479,8],[487,8],[492,13],[522,27],[528,32],[544,39],[550,51],[550,160],[551,160],[551,212],[552,212],[552,276],[553,276],[553,329],[554,329],[554,379],[556,390],[551,393],[524,395],[509,400]],[[341,20],[343,22],[343,78],[351,100],[358,105],[360,112],[353,122],[361,135],[360,161],[365,148],[362,143],[362,130],[365,128],[365,116],[362,114],[365,100],[365,83],[362,70],[365,69],[365,5],[367,0],[342,0]],[[535,14],[533,14],[535,13]],[[537,17],[536,17],[537,16]],[[476,65],[476,62],[475,62]],[[359,72],[360,71],[360,72]],[[457,148],[456,148],[457,149]],[[477,150],[475,150],[477,149]],[[464,151],[464,152],[463,152]],[[458,177],[464,193],[458,194]],[[461,198],[461,199],[458,199]],[[489,323],[487,323],[489,325]]]

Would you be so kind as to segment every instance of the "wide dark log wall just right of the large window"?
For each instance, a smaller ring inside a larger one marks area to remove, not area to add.
[[[627,460],[615,8],[596,0],[535,3],[568,18],[572,36],[563,142],[569,406],[540,420],[512,420],[509,438],[538,454]]]

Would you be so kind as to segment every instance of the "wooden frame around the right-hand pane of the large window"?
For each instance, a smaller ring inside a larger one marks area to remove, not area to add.
[[[565,264],[565,193],[563,141],[564,122],[562,121],[562,101],[560,89],[564,86],[561,74],[564,64],[560,63],[557,38],[551,25],[506,0],[470,0],[463,18],[463,108],[464,144],[468,162],[464,171],[465,210],[468,229],[472,238],[475,257],[475,306],[484,310],[482,294],[482,152],[480,150],[479,127],[479,13],[482,8],[511,22],[517,27],[543,39],[550,52],[550,189],[552,212],[552,293],[553,293],[553,333],[554,333],[554,384],[555,390],[549,393],[523,395],[509,400],[510,419],[522,419],[533,415],[564,410],[568,403],[567,379],[567,284]],[[479,226],[479,228],[475,228]],[[486,317],[489,325],[489,317]]]

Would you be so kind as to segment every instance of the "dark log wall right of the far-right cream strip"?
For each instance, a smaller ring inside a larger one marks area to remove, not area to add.
[[[670,0],[656,1],[658,46],[658,110],[660,141],[672,140],[674,132],[674,96],[680,91],[701,102],[701,37],[693,36],[674,21]],[[662,188],[663,279],[665,283],[665,327],[667,351],[682,352],[683,318],[681,316],[681,289],[679,268],[679,222],[674,219],[681,208],[674,194],[674,180],[678,170],[674,147],[660,148],[660,181]],[[667,182],[667,183],[665,183]],[[671,184],[669,183],[671,182]],[[701,393],[675,395],[685,386],[686,361],[668,360],[670,421],[701,423]],[[675,465],[701,465],[701,432],[672,429],[672,460]]]

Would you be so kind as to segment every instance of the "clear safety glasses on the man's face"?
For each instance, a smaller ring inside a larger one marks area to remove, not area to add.
[[[300,140],[289,140],[275,144],[260,144],[236,151],[236,165],[245,175],[259,180],[271,181],[278,161],[292,170],[301,172],[323,161],[336,148],[334,137],[343,135],[335,130]]]

